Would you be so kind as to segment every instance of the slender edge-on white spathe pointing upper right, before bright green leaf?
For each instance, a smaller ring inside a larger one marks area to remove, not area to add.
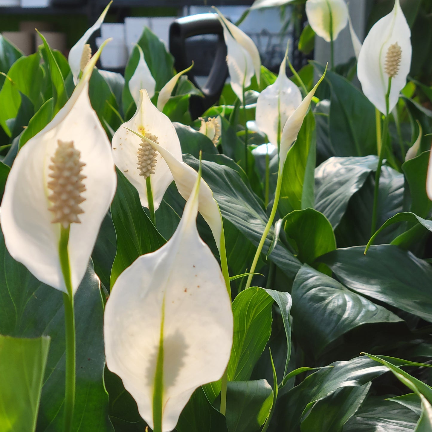
[[[289,119],[286,121],[285,126],[282,130],[282,138],[280,141],[280,150],[279,150],[279,175],[283,173],[283,165],[285,165],[286,155],[288,154],[288,150],[291,148],[294,141],[297,139],[297,135],[300,132],[300,128],[302,127],[303,120],[308,112],[309,105],[311,104],[311,100],[314,97],[318,86],[321,84],[321,81],[324,79],[324,76],[327,72],[327,66],[324,70],[323,75],[319,79],[318,83],[314,86],[314,88],[306,95],[303,99],[303,102],[299,105],[299,107],[291,114]]]

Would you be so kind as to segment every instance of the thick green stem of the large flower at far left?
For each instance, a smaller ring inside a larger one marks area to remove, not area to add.
[[[60,228],[59,256],[67,293],[63,293],[64,321],[66,337],[66,381],[64,392],[64,432],[72,430],[73,406],[75,404],[75,316],[73,311],[72,281],[70,278],[69,243],[70,226]]]

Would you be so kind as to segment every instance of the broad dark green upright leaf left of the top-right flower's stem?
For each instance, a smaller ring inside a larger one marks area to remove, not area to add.
[[[324,66],[313,64],[324,72]],[[329,130],[334,156],[376,154],[374,105],[343,76],[329,70],[325,80],[331,89]]]

